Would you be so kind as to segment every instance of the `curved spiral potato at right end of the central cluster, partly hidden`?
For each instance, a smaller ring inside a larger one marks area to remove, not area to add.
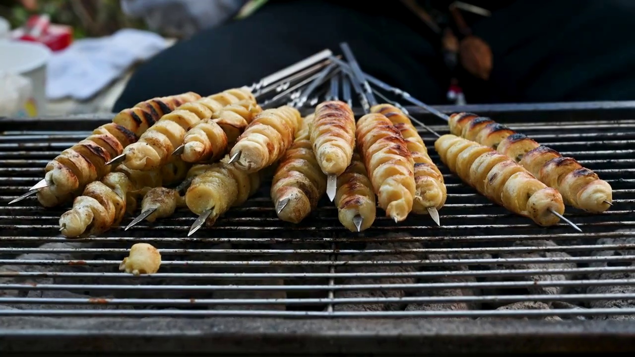
[[[392,125],[401,131],[406,147],[415,162],[415,201],[412,210],[417,214],[427,214],[429,207],[441,209],[445,205],[448,197],[448,191],[445,187],[443,174],[428,155],[424,140],[420,137],[417,129],[410,118],[406,116],[399,108],[390,104],[375,105],[370,109],[371,112],[384,114]]]

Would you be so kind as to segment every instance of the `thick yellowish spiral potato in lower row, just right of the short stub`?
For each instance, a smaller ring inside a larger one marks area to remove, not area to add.
[[[229,164],[229,156],[210,165],[197,175],[187,192],[185,205],[196,215],[212,210],[206,220],[207,226],[213,226],[220,215],[232,206],[243,205],[251,195],[258,191],[260,173],[248,173]]]

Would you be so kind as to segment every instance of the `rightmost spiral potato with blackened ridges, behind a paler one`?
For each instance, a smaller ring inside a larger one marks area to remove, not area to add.
[[[450,131],[455,135],[468,140],[474,138],[479,144],[493,147],[544,184],[557,189],[567,205],[601,213],[608,210],[613,201],[611,185],[596,173],[523,134],[471,113],[452,114],[449,123]]]

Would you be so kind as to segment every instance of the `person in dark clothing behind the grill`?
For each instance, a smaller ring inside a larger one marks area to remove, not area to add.
[[[635,1],[467,2],[491,10],[471,30],[493,53],[487,80],[458,72],[467,102],[635,98],[635,43],[627,38]],[[429,104],[446,103],[451,74],[440,40],[401,1],[271,0],[244,20],[202,30],[140,65],[113,109],[251,84],[324,48],[339,52],[342,41],[365,72]]]

